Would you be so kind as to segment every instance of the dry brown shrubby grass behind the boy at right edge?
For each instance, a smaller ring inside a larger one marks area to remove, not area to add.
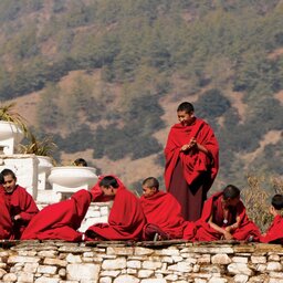
[[[248,176],[248,184],[249,187],[242,190],[241,196],[249,218],[259,226],[262,232],[265,232],[273,219],[269,212],[271,198],[275,193],[283,193],[283,179]]]

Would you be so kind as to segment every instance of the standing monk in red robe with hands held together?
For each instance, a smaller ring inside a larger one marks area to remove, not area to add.
[[[207,192],[219,169],[219,145],[212,128],[195,116],[189,102],[177,108],[179,123],[165,147],[165,185],[181,206],[185,220],[200,218]]]

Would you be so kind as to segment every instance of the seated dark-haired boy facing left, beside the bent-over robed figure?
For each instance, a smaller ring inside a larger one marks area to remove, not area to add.
[[[114,200],[108,223],[91,226],[85,240],[140,240],[146,219],[138,198],[114,176],[101,177],[92,193],[98,196],[99,191]]]

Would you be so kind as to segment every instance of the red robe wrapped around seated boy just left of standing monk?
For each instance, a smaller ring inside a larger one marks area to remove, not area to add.
[[[167,239],[182,239],[187,226],[193,226],[184,220],[180,205],[170,193],[158,191],[148,198],[142,196],[140,203],[147,223],[159,227]],[[188,234],[186,239],[189,240]]]

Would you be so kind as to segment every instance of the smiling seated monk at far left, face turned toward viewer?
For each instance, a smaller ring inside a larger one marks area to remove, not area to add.
[[[21,186],[17,185],[17,177],[10,169],[1,171],[3,192],[12,219],[12,233],[10,240],[19,240],[31,219],[39,212],[32,196]]]

